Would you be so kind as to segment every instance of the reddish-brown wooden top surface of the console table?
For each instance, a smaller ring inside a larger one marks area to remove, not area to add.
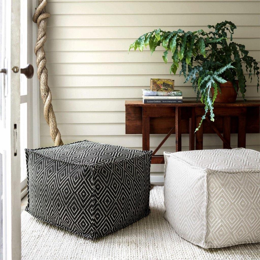
[[[130,100],[125,102],[126,106],[132,107],[204,107],[200,101],[196,102],[196,100],[183,100],[183,103],[176,103],[176,104],[144,104],[141,100]],[[214,103],[214,107],[221,106],[221,107],[259,107],[260,100],[239,100],[235,103]]]

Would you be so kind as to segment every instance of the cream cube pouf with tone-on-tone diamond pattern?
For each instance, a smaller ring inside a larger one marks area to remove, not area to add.
[[[165,219],[203,248],[260,242],[260,153],[216,149],[168,153]]]

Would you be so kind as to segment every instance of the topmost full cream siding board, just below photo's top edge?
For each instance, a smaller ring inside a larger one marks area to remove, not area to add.
[[[54,14],[204,14],[214,10],[215,14],[258,14],[258,2],[65,2],[49,3],[46,11]]]

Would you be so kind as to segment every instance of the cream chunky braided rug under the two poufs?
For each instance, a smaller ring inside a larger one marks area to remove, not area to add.
[[[22,259],[148,260],[260,259],[260,244],[203,249],[180,238],[163,218],[163,187],[150,195],[151,214],[125,229],[91,241],[22,212]]]

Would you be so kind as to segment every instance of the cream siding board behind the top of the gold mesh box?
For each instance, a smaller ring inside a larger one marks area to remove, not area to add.
[[[248,75],[245,75],[248,79]],[[52,87],[140,87],[147,88],[150,79],[173,79],[175,86],[189,86],[184,83],[184,76],[167,74],[147,75],[49,75],[48,83]],[[247,84],[256,86],[257,78],[253,77],[252,82]]]

